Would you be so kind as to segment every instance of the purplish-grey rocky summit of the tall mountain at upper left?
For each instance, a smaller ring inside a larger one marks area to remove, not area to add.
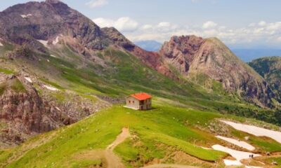
[[[61,1],[29,2],[7,8],[0,13],[0,29],[4,40],[19,45],[27,43],[41,51],[44,46],[37,40],[52,43],[60,35],[77,38],[84,47],[93,50],[101,50],[116,40]]]

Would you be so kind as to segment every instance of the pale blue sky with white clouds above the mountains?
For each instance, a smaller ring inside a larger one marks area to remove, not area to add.
[[[27,0],[0,0],[0,10]],[[216,36],[231,48],[281,49],[280,0],[63,0],[131,41]]]

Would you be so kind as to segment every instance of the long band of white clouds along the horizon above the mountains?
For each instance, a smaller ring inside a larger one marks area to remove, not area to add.
[[[229,27],[208,21],[202,25],[176,25],[172,22],[140,25],[129,17],[110,20],[96,18],[93,20],[100,27],[115,27],[131,41],[156,40],[168,41],[171,36],[195,35],[203,38],[217,37],[228,45],[281,46],[281,22],[252,22],[245,27]]]

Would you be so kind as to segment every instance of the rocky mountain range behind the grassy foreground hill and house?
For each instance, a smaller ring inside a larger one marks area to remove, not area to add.
[[[1,139],[10,145],[120,103],[129,92],[188,99],[190,106],[229,113],[238,111],[230,108],[235,102],[247,104],[243,99],[272,106],[263,78],[216,38],[175,36],[159,52],[148,52],[56,0],[18,4],[0,16],[1,93],[10,104],[0,107],[9,123]],[[7,72],[24,92],[7,84]],[[14,111],[15,106],[22,108]]]

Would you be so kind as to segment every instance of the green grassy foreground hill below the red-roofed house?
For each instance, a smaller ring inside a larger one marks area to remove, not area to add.
[[[198,147],[211,147],[221,142],[213,134],[197,128],[207,127],[216,118],[225,116],[167,105],[162,100],[155,100],[154,104],[155,109],[143,112],[122,106],[105,109],[79,123],[39,135],[21,146],[0,152],[0,162],[5,167],[89,167],[94,165],[93,162],[103,161],[91,158],[91,153],[106,148],[122,127],[129,127],[134,138],[118,146],[115,153],[128,167],[141,167],[155,158],[164,158],[169,155],[168,147],[201,160],[221,161],[226,156],[226,153]],[[242,138],[244,133],[236,131],[233,135]],[[254,146],[270,146],[275,151],[280,149],[280,144],[272,140],[260,144],[255,142],[260,138],[250,139],[249,143]],[[83,153],[87,153],[88,157],[81,157]]]

